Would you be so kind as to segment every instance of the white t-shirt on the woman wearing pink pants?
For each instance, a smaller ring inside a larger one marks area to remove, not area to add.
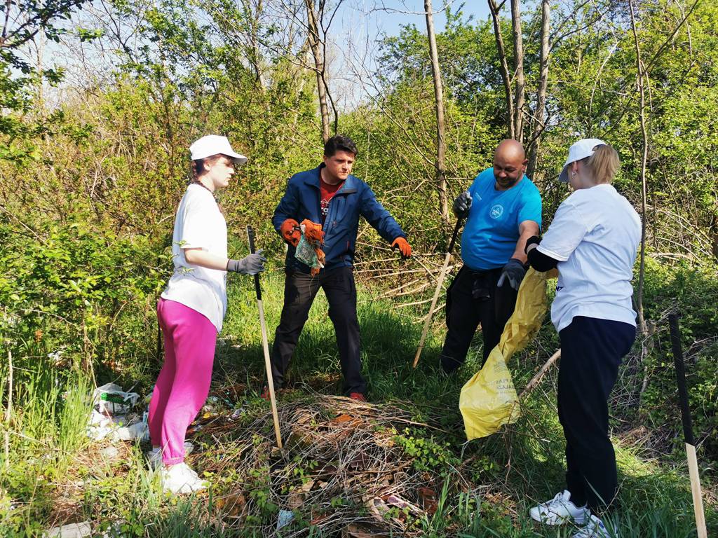
[[[188,263],[185,248],[201,248],[227,257],[227,222],[212,193],[197,184],[187,187],[174,217],[174,274],[162,298],[196,310],[220,332],[227,311],[227,272]]]

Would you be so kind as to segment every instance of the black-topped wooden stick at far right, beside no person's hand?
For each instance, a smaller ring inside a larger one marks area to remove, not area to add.
[[[706,516],[703,512],[703,497],[701,496],[701,477],[698,474],[698,461],[696,459],[696,443],[693,438],[693,424],[691,410],[688,407],[688,390],[686,390],[686,370],[683,364],[683,351],[681,351],[681,331],[678,326],[678,314],[668,316],[668,326],[671,329],[671,346],[673,348],[673,361],[676,362],[676,382],[678,382],[678,397],[681,404],[681,420],[683,420],[683,435],[686,440],[686,455],[688,456],[688,472],[691,477],[691,494],[693,495],[693,509],[696,513],[696,529],[698,538],[707,538]]]

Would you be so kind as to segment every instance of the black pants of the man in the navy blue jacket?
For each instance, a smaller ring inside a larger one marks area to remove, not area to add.
[[[309,316],[314,297],[319,288],[329,301],[329,317],[337,334],[337,346],[344,375],[343,390],[366,392],[366,382],[361,375],[359,354],[359,321],[357,320],[357,290],[354,273],[350,267],[323,271],[312,277],[301,271],[288,270],[284,280],[284,308],[272,346],[272,375],[274,384],[286,383],[286,368],[297,346],[299,334]]]

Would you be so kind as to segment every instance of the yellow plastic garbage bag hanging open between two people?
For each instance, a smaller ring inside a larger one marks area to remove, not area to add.
[[[530,268],[518,288],[516,309],[482,369],[461,390],[459,408],[468,440],[485,437],[518,418],[518,396],[506,362],[541,327],[546,314],[547,273]]]

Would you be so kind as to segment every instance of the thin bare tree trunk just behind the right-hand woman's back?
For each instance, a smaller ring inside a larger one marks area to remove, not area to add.
[[[646,178],[645,169],[648,163],[648,128],[645,124],[645,87],[644,80],[647,76],[643,60],[640,57],[640,44],[638,43],[638,32],[635,29],[635,16],[633,14],[633,0],[628,0],[630,10],[630,24],[633,30],[633,40],[635,44],[635,64],[636,64],[636,84],[638,85],[638,95],[640,97],[640,108],[638,117],[640,118],[640,132],[643,138],[643,154],[640,161],[640,207],[641,207],[641,229],[640,229],[640,270],[638,272],[638,293],[636,293],[635,304],[638,310],[638,328],[642,334],[646,333],[645,318],[643,317],[643,281],[645,280],[645,220],[646,210]]]

